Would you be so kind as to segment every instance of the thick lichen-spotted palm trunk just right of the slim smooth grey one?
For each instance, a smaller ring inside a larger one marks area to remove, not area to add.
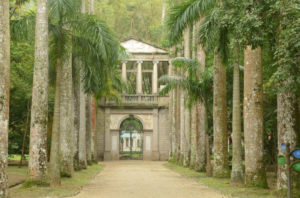
[[[245,186],[268,188],[262,106],[262,50],[247,46],[244,56]]]

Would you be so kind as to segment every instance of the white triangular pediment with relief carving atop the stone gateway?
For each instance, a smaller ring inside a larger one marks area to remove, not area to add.
[[[127,51],[131,53],[169,53],[167,50],[155,46],[154,43],[135,36],[128,36],[119,41],[123,47],[127,48]]]

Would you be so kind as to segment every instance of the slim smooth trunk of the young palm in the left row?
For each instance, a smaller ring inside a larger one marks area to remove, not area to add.
[[[51,137],[51,151],[50,151],[50,164],[49,164],[49,180],[50,185],[61,185],[60,178],[60,157],[59,157],[59,136],[60,136],[60,79],[61,79],[61,64],[60,52],[61,43],[57,44],[57,68],[56,68],[56,83],[55,83],[55,99],[52,123],[52,137]]]

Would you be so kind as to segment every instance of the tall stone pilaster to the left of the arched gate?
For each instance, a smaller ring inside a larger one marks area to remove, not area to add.
[[[111,161],[110,153],[110,108],[105,108],[105,139],[103,161]]]

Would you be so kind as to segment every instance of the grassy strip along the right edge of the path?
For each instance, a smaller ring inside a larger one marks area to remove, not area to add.
[[[164,164],[163,166],[171,170],[174,170],[184,176],[193,178],[200,183],[204,183],[208,187],[228,195],[228,197],[230,196],[239,197],[239,198],[259,198],[259,197],[286,198],[287,197],[286,191],[283,190],[270,191],[268,189],[262,189],[262,188],[244,188],[238,186],[231,186],[229,185],[230,179],[215,179],[211,177],[206,177],[205,173],[195,172],[194,169],[189,169],[170,162]],[[268,178],[268,182],[269,179],[270,180],[274,179],[272,178],[274,177],[274,174],[272,175],[271,173],[267,172],[267,176],[271,177]],[[300,198],[300,190],[293,190],[293,198]]]

